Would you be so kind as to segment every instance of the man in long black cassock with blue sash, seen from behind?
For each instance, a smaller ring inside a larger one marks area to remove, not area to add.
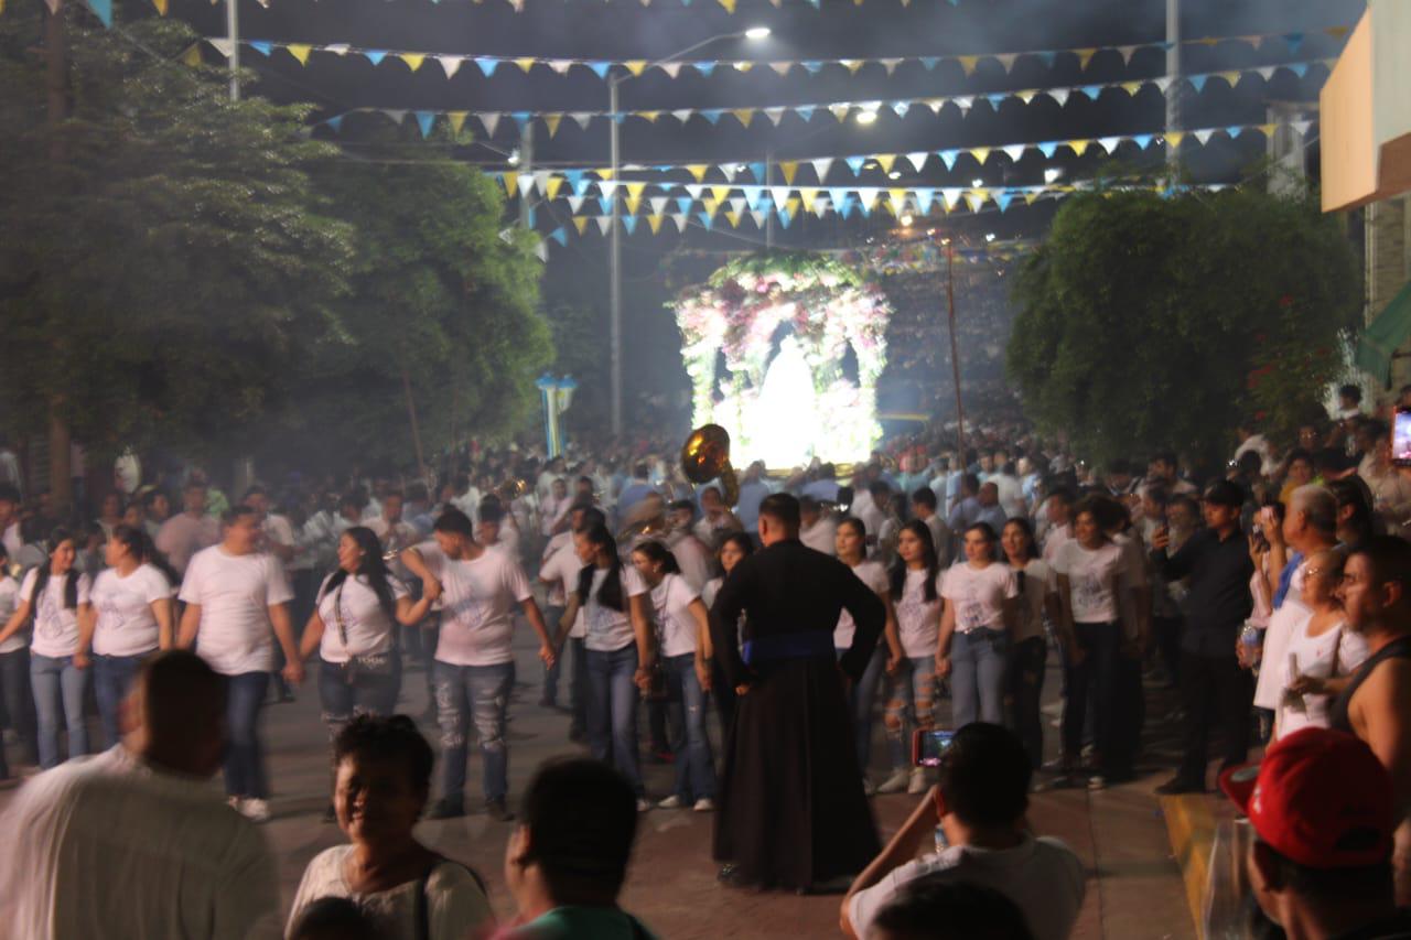
[[[847,565],[799,541],[792,495],[761,502],[759,539],[763,550],[735,566],[710,613],[717,662],[738,694],[715,860],[725,862],[720,876],[729,885],[825,891],[880,850],[845,682],[862,676],[886,610]],[[835,661],[832,631],[844,608],[856,634]]]

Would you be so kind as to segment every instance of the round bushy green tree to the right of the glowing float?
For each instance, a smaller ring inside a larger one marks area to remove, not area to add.
[[[1356,323],[1352,247],[1312,193],[1070,198],[1015,287],[1024,408],[1094,460],[1290,436]]]

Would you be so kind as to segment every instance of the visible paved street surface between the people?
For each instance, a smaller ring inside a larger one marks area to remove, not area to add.
[[[542,672],[533,659],[531,632],[518,634],[519,682],[511,706],[511,803],[545,758],[573,754],[569,720],[538,707]],[[404,677],[401,709],[419,714],[426,707],[426,680],[420,670]],[[1050,666],[1047,699],[1050,717],[1057,713],[1058,675]],[[947,703],[941,703],[943,720]],[[880,725],[880,716],[879,716]],[[435,742],[435,728],[426,727]],[[645,733],[645,718],[643,718]],[[1057,731],[1046,728],[1050,747]],[[341,841],[334,826],[323,824],[329,766],[326,738],[319,721],[312,680],[292,704],[265,710],[270,772],[274,785],[274,819],[265,833],[278,854],[284,903],[293,896],[305,864],[323,848]],[[882,747],[882,735],[876,735]],[[670,793],[672,768],[645,765],[653,796]],[[437,766],[439,776],[439,766]],[[1057,790],[1038,793],[1031,821],[1040,834],[1065,840],[1089,871],[1088,896],[1075,937],[1120,940],[1192,937],[1189,908],[1181,874],[1171,858],[1170,840],[1154,783],[1154,771],[1140,783],[1103,793]],[[478,807],[480,762],[470,768],[468,805]],[[3,806],[11,792],[0,793]],[[906,819],[914,796],[875,800],[883,840]],[[491,886],[491,899],[502,917],[514,913],[501,874],[509,824],[494,823],[474,812],[460,820],[422,823],[420,836],[437,851],[476,867]],[[745,893],[715,884],[710,860],[711,817],[691,812],[653,810],[642,817],[636,858],[624,903],[663,937],[825,937],[838,936],[838,898]]]

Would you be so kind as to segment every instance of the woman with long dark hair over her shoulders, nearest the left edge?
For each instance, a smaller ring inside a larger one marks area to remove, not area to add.
[[[40,724],[40,766],[59,764],[59,724],[69,731],[69,757],[87,754],[83,697],[87,693],[87,659],[79,655],[79,628],[93,617],[89,576],[73,562],[78,545],[68,529],[49,535],[49,558],[32,567],[20,584],[20,605],[0,629],[0,645],[34,615],[30,644],[30,687]],[[92,627],[87,627],[92,629]]]

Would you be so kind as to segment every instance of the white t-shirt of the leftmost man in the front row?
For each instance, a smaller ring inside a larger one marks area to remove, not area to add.
[[[279,559],[212,545],[190,559],[179,597],[200,604],[196,652],[212,669],[224,676],[274,669],[270,608],[293,600]]]

